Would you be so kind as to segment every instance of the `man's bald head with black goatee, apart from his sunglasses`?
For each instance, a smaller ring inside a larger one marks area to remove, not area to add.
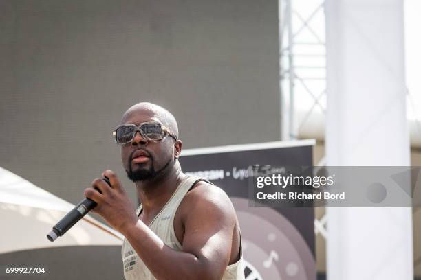
[[[175,117],[168,110],[147,102],[131,106],[122,116],[121,124],[140,126],[145,122],[158,123],[167,128],[160,141],[147,141],[140,132],[129,143],[121,145],[122,165],[133,182],[151,180],[173,171],[180,156],[182,142],[178,139]],[[171,137],[170,137],[171,135]]]

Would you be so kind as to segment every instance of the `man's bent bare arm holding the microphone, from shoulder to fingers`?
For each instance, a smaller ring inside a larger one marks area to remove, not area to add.
[[[222,278],[231,255],[236,221],[235,210],[224,191],[199,183],[186,194],[182,201],[186,209],[182,214],[182,251],[176,251],[139,220],[131,207],[122,206],[131,202],[114,172],[107,170],[104,175],[110,179],[111,187],[103,180],[94,180],[92,185],[102,194],[87,189],[85,195],[98,203],[96,213],[125,235],[157,279]]]

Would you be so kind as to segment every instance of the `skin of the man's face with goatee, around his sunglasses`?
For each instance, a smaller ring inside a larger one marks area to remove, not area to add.
[[[148,110],[137,110],[122,119],[122,124],[139,126],[146,121],[157,121],[162,124],[153,113]],[[149,180],[165,174],[174,164],[174,139],[165,137],[161,141],[146,141],[136,132],[131,143],[121,146],[122,165],[127,176],[133,182]],[[136,154],[142,156],[136,158]]]

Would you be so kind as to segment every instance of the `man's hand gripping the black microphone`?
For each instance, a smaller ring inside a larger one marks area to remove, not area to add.
[[[106,170],[102,176],[109,178],[111,187],[102,178],[96,178],[91,183],[92,187],[85,189],[85,196],[98,204],[92,211],[122,233],[138,222],[136,209],[114,172]]]

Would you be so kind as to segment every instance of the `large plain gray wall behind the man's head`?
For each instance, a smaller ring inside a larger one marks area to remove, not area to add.
[[[279,139],[277,1],[0,1],[0,166],[76,203],[140,101],[184,148]]]

